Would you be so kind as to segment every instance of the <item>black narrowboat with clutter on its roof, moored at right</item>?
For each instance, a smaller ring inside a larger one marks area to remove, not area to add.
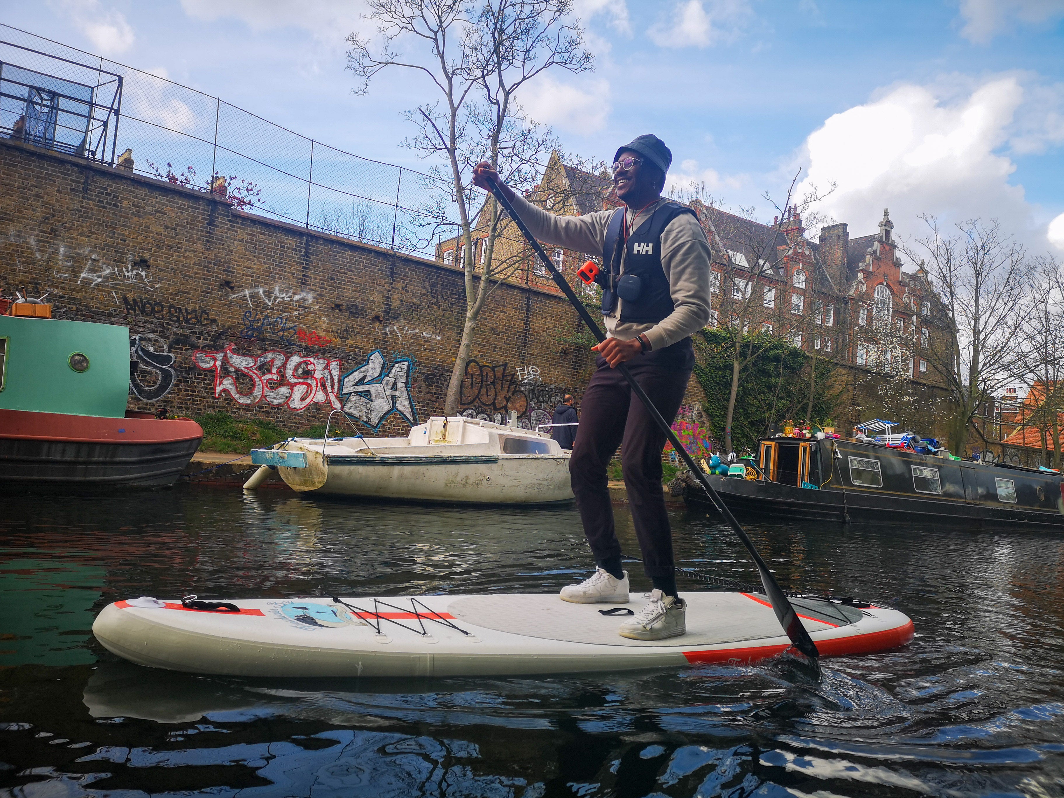
[[[755,462],[746,462],[745,477],[709,477],[736,514],[843,522],[1064,528],[1064,479],[1055,471],[842,438],[763,438]],[[713,508],[691,475],[684,479],[683,496],[691,508]]]

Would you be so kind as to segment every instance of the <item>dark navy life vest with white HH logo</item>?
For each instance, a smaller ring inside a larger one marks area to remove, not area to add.
[[[620,239],[621,223],[627,210],[618,207],[606,228],[605,240],[602,245],[602,263],[609,264],[602,277],[602,311],[609,313],[614,304],[608,306],[610,275],[613,275],[614,285],[620,276]],[[639,278],[641,289],[636,299],[625,299],[620,311],[620,321],[635,323],[656,323],[672,313],[672,296],[669,293],[668,278],[662,268],[662,231],[672,219],[682,214],[696,216],[695,212],[679,202],[663,202],[646,221],[628,236],[625,252],[625,275]]]

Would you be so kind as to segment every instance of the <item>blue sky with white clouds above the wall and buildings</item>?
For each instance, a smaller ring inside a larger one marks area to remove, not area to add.
[[[802,169],[835,190],[851,235],[890,206],[999,218],[1064,255],[1064,0],[576,0],[594,72],[548,73],[521,98],[576,153],[639,133],[762,219]],[[383,74],[351,93],[345,38],[361,0],[45,0],[0,21],[220,96],[336,147],[416,165],[401,114],[430,87]],[[402,46],[402,43],[399,43]],[[423,168],[423,164],[419,164]]]

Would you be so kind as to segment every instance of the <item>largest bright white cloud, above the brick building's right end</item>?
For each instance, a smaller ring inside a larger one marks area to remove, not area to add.
[[[819,210],[849,222],[854,235],[888,206],[901,236],[917,232],[916,217],[927,212],[947,222],[998,218],[1029,245],[1044,246],[1036,209],[1010,183],[1016,120],[1032,113],[1020,77],[993,77],[960,93],[959,83],[897,85],[829,118],[805,139],[797,196],[836,183]]]

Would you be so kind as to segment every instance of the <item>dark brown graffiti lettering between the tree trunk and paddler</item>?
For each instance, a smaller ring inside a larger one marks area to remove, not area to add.
[[[534,430],[550,423],[565,393],[545,384],[536,366],[511,369],[509,363],[491,366],[471,360],[462,378],[459,404],[462,415],[496,423],[505,423],[508,414],[516,413],[521,427]]]

